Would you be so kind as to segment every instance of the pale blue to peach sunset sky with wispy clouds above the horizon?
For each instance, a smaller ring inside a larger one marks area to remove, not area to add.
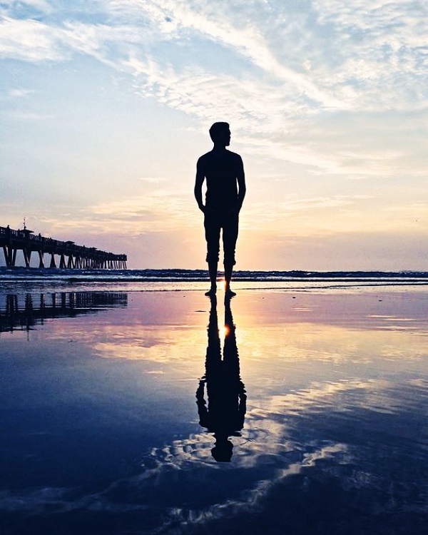
[[[203,268],[195,164],[227,121],[237,269],[428,270],[427,0],[0,0],[0,20],[0,226]]]

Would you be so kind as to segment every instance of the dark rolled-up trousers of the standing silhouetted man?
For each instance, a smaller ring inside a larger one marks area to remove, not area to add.
[[[238,239],[238,213],[205,213],[204,227],[207,240],[207,262],[218,262],[220,253],[220,230],[223,229],[224,264],[235,265],[235,246]]]

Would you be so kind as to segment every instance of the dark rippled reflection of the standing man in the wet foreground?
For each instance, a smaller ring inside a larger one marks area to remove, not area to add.
[[[240,437],[240,430],[244,426],[247,396],[240,379],[238,348],[230,300],[225,303],[223,360],[216,305],[215,297],[212,297],[205,377],[200,380],[196,392],[196,403],[200,425],[206,427],[208,432],[214,433],[215,446],[211,450],[214,459],[219,462],[229,462],[232,457],[233,444],[228,438]],[[205,384],[208,405],[204,399]]]

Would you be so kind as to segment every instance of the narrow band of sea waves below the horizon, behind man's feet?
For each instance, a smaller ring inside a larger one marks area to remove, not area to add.
[[[223,298],[218,277],[218,297]],[[57,291],[205,292],[205,270],[67,270],[0,267],[0,293]],[[280,272],[242,271],[233,274],[238,292],[425,292],[428,272]]]

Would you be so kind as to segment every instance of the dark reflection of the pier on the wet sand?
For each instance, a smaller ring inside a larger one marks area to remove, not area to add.
[[[50,292],[0,295],[0,332],[32,330],[45,320],[126,308],[125,292]]]

